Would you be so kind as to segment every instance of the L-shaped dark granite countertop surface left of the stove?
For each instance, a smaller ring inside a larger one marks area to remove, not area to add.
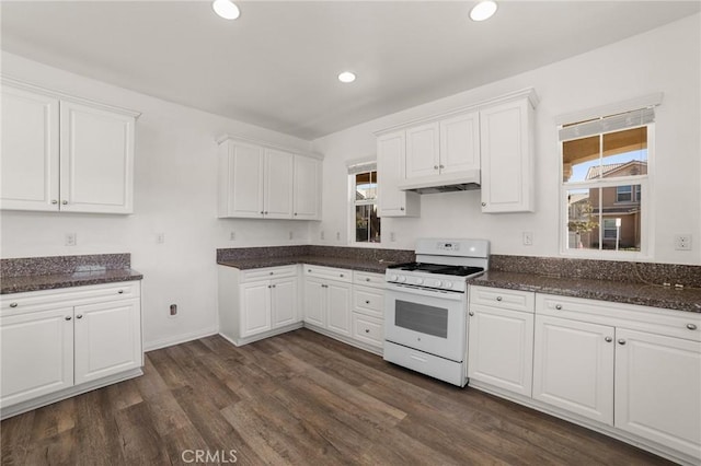
[[[366,258],[331,257],[331,256],[287,256],[287,257],[258,257],[234,258],[218,260],[221,266],[235,267],[241,270],[258,269],[263,267],[279,267],[296,264],[309,264],[312,266],[336,267],[342,269],[359,270],[375,273],[384,273],[387,266],[395,264],[389,260],[374,260]]]

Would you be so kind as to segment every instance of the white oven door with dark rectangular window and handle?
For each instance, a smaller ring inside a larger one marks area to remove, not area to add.
[[[462,362],[467,340],[467,295],[388,283],[384,339]]]

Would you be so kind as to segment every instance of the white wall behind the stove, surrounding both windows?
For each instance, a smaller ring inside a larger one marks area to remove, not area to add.
[[[482,214],[480,193],[424,195],[420,219],[382,219],[382,247],[413,248],[422,236],[486,237],[495,254],[559,256],[558,115],[664,92],[656,109],[651,260],[701,264],[700,22],[694,15],[547,67],[340,131],[314,141],[325,154],[323,221],[312,242],[346,243],[345,161],[376,153],[372,131],[533,86],[541,100],[536,121],[535,213]],[[342,240],[335,241],[335,232]],[[533,245],[521,232],[535,233]],[[334,232],[330,235],[329,232]],[[397,242],[389,243],[390,232]],[[674,249],[675,233],[691,233],[693,251]]]

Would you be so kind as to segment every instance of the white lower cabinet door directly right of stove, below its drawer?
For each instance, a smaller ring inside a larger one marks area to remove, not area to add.
[[[531,396],[533,314],[470,305],[468,376]]]

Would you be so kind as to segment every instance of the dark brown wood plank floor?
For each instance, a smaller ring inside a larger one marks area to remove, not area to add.
[[[2,464],[666,463],[304,329],[151,351],[145,372],[3,421]]]

